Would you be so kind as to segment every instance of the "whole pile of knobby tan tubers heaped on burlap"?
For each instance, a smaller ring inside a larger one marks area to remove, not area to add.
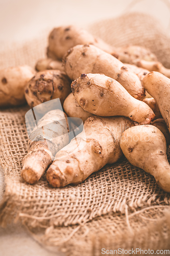
[[[1,108],[27,101],[44,111],[42,103],[59,98],[65,112],[53,105],[36,123],[23,159],[26,182],[46,171],[52,187],[78,184],[124,154],[170,192],[170,70],[150,50],[115,48],[75,26],[58,27],[35,70],[0,71]],[[84,123],[71,140],[69,118]]]

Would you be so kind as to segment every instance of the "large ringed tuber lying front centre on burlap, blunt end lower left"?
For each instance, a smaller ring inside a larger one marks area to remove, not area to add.
[[[121,156],[119,141],[122,132],[135,125],[125,117],[89,117],[85,133],[79,134],[60,150],[46,173],[53,187],[78,184],[107,163]]]

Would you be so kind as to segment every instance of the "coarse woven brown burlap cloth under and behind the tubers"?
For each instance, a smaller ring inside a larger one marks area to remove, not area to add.
[[[92,25],[90,31],[107,41],[112,38],[113,45],[142,45],[143,40],[143,45],[155,49],[159,59],[162,56],[163,63],[170,67],[170,40],[148,15],[132,13],[104,20]],[[44,32],[44,38],[29,44],[4,46],[0,51],[1,68],[19,64],[33,67],[37,59],[44,57],[46,36]],[[170,249],[170,194],[125,157],[77,186],[51,188],[45,174],[35,185],[24,182],[20,172],[21,160],[27,154],[28,110],[25,105],[0,112],[0,163],[6,181],[0,206],[2,226],[20,220],[47,248],[60,247],[71,256],[103,255],[101,249],[105,247]],[[169,148],[167,154],[170,160]]]

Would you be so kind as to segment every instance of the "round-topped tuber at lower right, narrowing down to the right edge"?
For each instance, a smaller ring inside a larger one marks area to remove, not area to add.
[[[131,127],[122,134],[120,147],[131,164],[153,175],[158,185],[170,192],[170,165],[166,156],[166,140],[157,127]]]

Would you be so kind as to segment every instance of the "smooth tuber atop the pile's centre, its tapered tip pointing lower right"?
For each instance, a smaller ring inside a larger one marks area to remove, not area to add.
[[[133,98],[116,80],[102,74],[82,74],[71,83],[78,104],[97,116],[126,116],[141,124],[155,117],[143,101]]]

